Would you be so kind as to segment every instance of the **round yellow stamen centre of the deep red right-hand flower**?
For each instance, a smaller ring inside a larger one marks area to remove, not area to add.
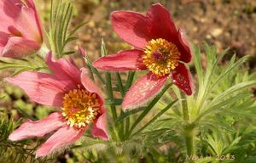
[[[165,76],[177,67],[180,55],[172,42],[152,39],[144,49],[143,64],[156,76]]]

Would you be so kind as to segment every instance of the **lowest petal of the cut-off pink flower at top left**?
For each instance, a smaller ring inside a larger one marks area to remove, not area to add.
[[[1,55],[3,57],[20,58],[36,53],[39,48],[40,44],[38,42],[26,40],[22,37],[10,37]]]

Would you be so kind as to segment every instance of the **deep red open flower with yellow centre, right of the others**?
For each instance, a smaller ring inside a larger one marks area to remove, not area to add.
[[[133,109],[154,97],[166,83],[172,82],[184,93],[192,94],[189,70],[184,63],[191,60],[188,42],[177,30],[171,15],[159,3],[146,15],[117,11],[111,14],[113,30],[135,49],[102,57],[94,66],[102,70],[148,70],[126,93],[123,109]]]

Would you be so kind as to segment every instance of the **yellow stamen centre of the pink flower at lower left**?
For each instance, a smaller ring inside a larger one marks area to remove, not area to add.
[[[90,93],[80,86],[66,93],[62,104],[62,115],[70,126],[86,126],[101,113],[96,93]]]

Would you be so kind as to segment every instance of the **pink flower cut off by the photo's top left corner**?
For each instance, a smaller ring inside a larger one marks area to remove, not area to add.
[[[43,34],[33,0],[0,0],[0,56],[20,58],[38,51]]]

